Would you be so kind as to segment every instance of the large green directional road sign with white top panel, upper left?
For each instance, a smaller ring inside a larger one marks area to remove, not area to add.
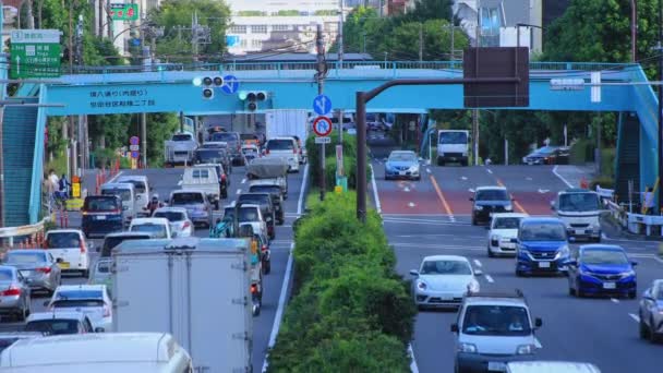
[[[60,76],[59,29],[14,29],[11,32],[11,79]]]

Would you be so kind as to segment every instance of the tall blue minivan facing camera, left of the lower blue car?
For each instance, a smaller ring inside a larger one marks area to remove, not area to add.
[[[569,260],[564,222],[557,218],[525,218],[518,228],[516,276],[562,274]]]

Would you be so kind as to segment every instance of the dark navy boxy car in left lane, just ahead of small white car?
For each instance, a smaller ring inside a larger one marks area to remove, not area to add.
[[[122,200],[117,195],[86,196],[81,212],[81,229],[87,238],[122,231]]]

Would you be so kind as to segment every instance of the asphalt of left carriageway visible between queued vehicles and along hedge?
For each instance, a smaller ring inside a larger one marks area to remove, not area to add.
[[[123,170],[121,175],[145,175],[149,178],[149,182],[154,188],[153,193],[157,193],[160,200],[166,198],[172,190],[179,189],[178,182],[183,173],[182,168],[171,169],[145,169],[145,170]],[[230,176],[230,193],[228,200],[224,203],[230,203],[234,197],[248,190],[249,182],[244,178],[244,167],[233,167],[232,175]],[[287,291],[287,287],[282,287],[284,278],[286,274],[286,266],[288,263],[288,256],[292,245],[292,221],[298,216],[298,208],[303,200],[300,197],[302,194],[302,179],[304,172],[291,173],[288,178],[288,200],[285,201],[286,207],[286,221],[282,226],[276,227],[276,238],[272,241],[272,272],[269,275],[264,277],[264,294],[263,294],[263,309],[260,316],[254,317],[253,325],[253,370],[254,372],[262,371],[263,363],[265,361],[265,354],[267,352],[267,346],[272,338],[273,328],[275,325],[275,315],[279,306],[280,293],[282,290]],[[93,189],[91,189],[93,190]],[[70,227],[80,227],[81,217],[77,213],[71,213],[70,215]],[[198,228],[195,231],[197,237],[206,237],[208,230],[205,228]],[[93,240],[96,248],[100,248],[103,240]],[[98,257],[98,253],[92,253],[93,261]],[[86,279],[81,277],[73,277],[65,275],[62,284],[83,284]],[[64,276],[63,276],[64,277]],[[39,312],[44,311],[44,302],[47,301],[46,297],[35,297],[32,302],[32,311]],[[282,310],[281,310],[282,312]],[[22,323],[2,323],[0,324],[0,330],[19,330],[23,327]]]

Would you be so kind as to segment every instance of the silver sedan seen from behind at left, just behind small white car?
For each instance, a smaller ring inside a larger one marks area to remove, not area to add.
[[[10,250],[4,255],[3,264],[19,269],[33,291],[44,290],[52,294],[60,285],[60,266],[46,250]]]

